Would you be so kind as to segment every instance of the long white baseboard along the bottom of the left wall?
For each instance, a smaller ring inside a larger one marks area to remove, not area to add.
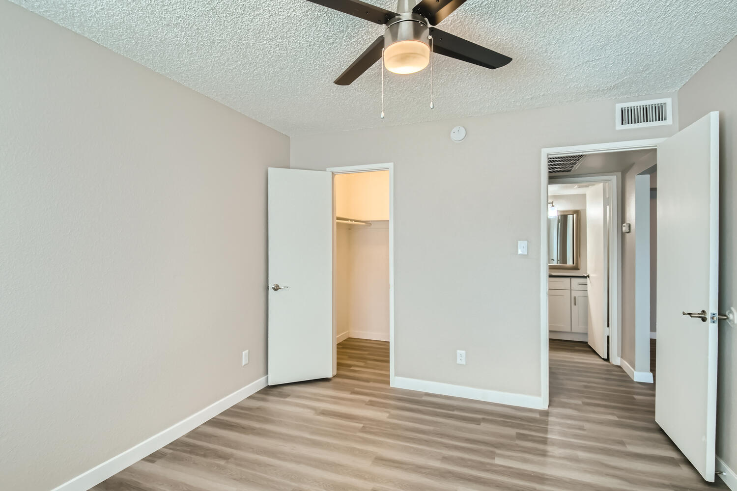
[[[71,478],[64,484],[55,487],[52,491],[87,491],[93,486],[105,481],[110,476],[114,476],[121,470],[125,469],[129,465],[135,464],[145,456],[150,455],[157,451],[159,448],[169,445],[175,439],[178,439],[182,435],[197,428],[207,420],[212,419],[221,412],[228,409],[234,404],[240,403],[241,400],[247,398],[251,394],[259,392],[267,385],[267,377],[259,378],[257,381],[248,384],[242,389],[238,389],[231,395],[218,400],[216,403],[212,403],[205,409],[192,414],[192,416],[186,417],[179,423],[176,423],[170,428],[161,431],[161,433],[153,435],[149,439],[140,442],[138,445],[133,445],[127,451],[119,453],[112,459],[108,459],[102,464],[92,467],[85,473],[80,474],[75,478]]]

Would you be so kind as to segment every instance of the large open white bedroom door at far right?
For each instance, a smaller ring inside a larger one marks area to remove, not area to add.
[[[657,147],[655,421],[714,481],[719,113]],[[704,313],[700,318],[687,312]]]

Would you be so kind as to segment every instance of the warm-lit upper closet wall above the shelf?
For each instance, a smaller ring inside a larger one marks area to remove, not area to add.
[[[388,220],[389,171],[335,174],[335,215]]]

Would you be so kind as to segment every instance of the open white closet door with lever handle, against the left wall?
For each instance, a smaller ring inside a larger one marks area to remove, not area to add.
[[[332,173],[268,170],[269,385],[333,375]]]

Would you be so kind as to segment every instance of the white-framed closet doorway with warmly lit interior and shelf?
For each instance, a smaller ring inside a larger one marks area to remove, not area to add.
[[[391,163],[333,174],[333,372],[353,350],[388,342],[394,384],[394,169]]]

